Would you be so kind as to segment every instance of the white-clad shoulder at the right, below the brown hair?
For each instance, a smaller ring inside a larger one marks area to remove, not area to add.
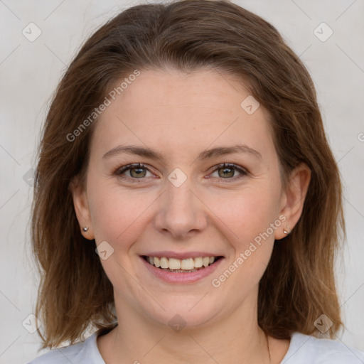
[[[364,352],[341,341],[294,333],[281,364],[364,364]]]

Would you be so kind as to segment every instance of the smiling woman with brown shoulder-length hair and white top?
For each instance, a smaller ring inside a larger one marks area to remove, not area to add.
[[[328,339],[344,222],[314,85],[228,1],[91,36],[48,112],[32,228],[43,348],[75,345],[31,363],[364,362]]]

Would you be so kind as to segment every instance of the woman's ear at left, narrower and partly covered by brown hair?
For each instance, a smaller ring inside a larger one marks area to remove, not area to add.
[[[93,240],[95,239],[95,235],[92,228],[90,208],[85,188],[82,186],[82,183],[80,183],[77,176],[70,182],[69,188],[72,193],[73,206],[75,207],[77,220],[80,224],[81,234],[86,239]],[[88,228],[88,230],[83,231],[83,228]]]

